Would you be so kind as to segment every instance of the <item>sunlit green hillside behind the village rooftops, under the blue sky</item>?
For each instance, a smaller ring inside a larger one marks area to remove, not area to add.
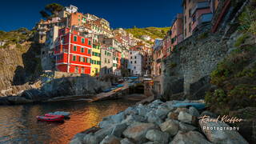
[[[135,38],[142,39],[142,35],[148,35],[151,38],[163,38],[170,27],[146,27],[146,28],[130,28],[126,29],[128,33],[134,34]]]

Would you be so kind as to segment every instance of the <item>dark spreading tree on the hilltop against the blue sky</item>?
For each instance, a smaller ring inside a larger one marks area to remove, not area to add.
[[[63,9],[63,6],[58,3],[51,3],[45,6],[45,10],[41,10],[39,13],[43,18],[52,18],[57,16],[58,12]],[[49,14],[50,13],[50,14]]]

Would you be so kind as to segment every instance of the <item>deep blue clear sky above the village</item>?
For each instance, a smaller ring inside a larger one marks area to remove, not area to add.
[[[78,6],[79,12],[105,18],[114,29],[170,26],[175,15],[182,12],[182,0],[2,0],[0,30],[31,30],[42,18],[39,11],[53,2]]]

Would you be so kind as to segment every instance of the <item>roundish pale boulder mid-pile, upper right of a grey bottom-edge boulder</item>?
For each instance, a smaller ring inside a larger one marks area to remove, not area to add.
[[[170,136],[174,136],[178,132],[178,122],[174,120],[168,120],[160,125],[160,129],[163,132],[169,133]]]

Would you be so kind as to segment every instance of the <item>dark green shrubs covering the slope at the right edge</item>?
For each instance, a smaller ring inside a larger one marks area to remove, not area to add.
[[[235,45],[238,49],[229,54],[211,76],[211,83],[218,88],[206,93],[206,103],[220,114],[256,106],[256,62],[254,45],[245,44],[251,35],[243,34]]]

